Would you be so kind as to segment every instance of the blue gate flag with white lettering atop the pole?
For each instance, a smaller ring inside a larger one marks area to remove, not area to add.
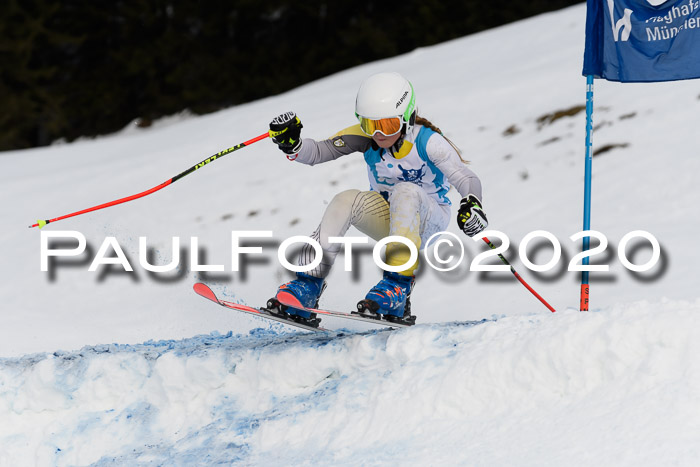
[[[700,0],[587,0],[583,74],[610,81],[700,78]]]

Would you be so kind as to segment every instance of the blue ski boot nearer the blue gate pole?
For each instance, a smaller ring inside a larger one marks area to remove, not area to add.
[[[404,276],[396,272],[384,272],[384,278],[357,304],[354,314],[366,318],[382,319],[393,323],[415,324],[411,315],[411,291],[414,276]]]

